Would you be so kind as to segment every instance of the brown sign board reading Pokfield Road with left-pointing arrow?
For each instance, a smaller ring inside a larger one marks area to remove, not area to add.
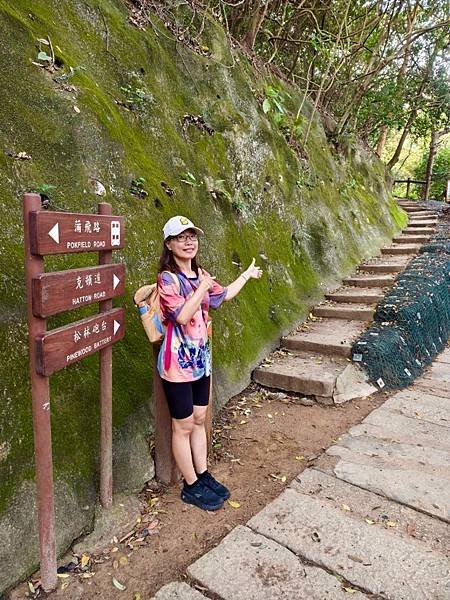
[[[124,242],[123,217],[46,210],[30,213],[32,254],[119,250]]]

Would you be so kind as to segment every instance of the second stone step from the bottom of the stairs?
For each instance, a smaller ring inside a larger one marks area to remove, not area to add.
[[[366,326],[363,321],[322,319],[301,325],[302,330],[282,338],[281,345],[288,350],[349,358],[353,341]]]

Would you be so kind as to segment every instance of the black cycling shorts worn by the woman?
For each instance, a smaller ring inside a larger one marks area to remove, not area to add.
[[[164,393],[172,419],[186,419],[195,406],[208,406],[210,377],[196,381],[166,381],[162,379]]]

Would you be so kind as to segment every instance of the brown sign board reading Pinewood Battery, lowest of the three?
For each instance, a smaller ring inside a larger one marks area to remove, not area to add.
[[[125,334],[125,311],[116,308],[53,329],[36,338],[36,371],[48,377],[111,344]]]

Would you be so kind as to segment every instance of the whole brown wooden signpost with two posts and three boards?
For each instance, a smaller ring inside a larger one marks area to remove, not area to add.
[[[124,292],[125,267],[112,263],[112,251],[124,247],[124,218],[99,204],[99,214],[41,209],[39,194],[23,200],[25,274],[28,298],[33,429],[38,495],[41,583],[57,584],[49,376],[100,352],[100,500],[112,504],[112,345],[125,334],[123,308],[112,298]],[[98,252],[99,265],[44,273],[43,256]],[[47,331],[46,318],[99,303],[99,313]]]

